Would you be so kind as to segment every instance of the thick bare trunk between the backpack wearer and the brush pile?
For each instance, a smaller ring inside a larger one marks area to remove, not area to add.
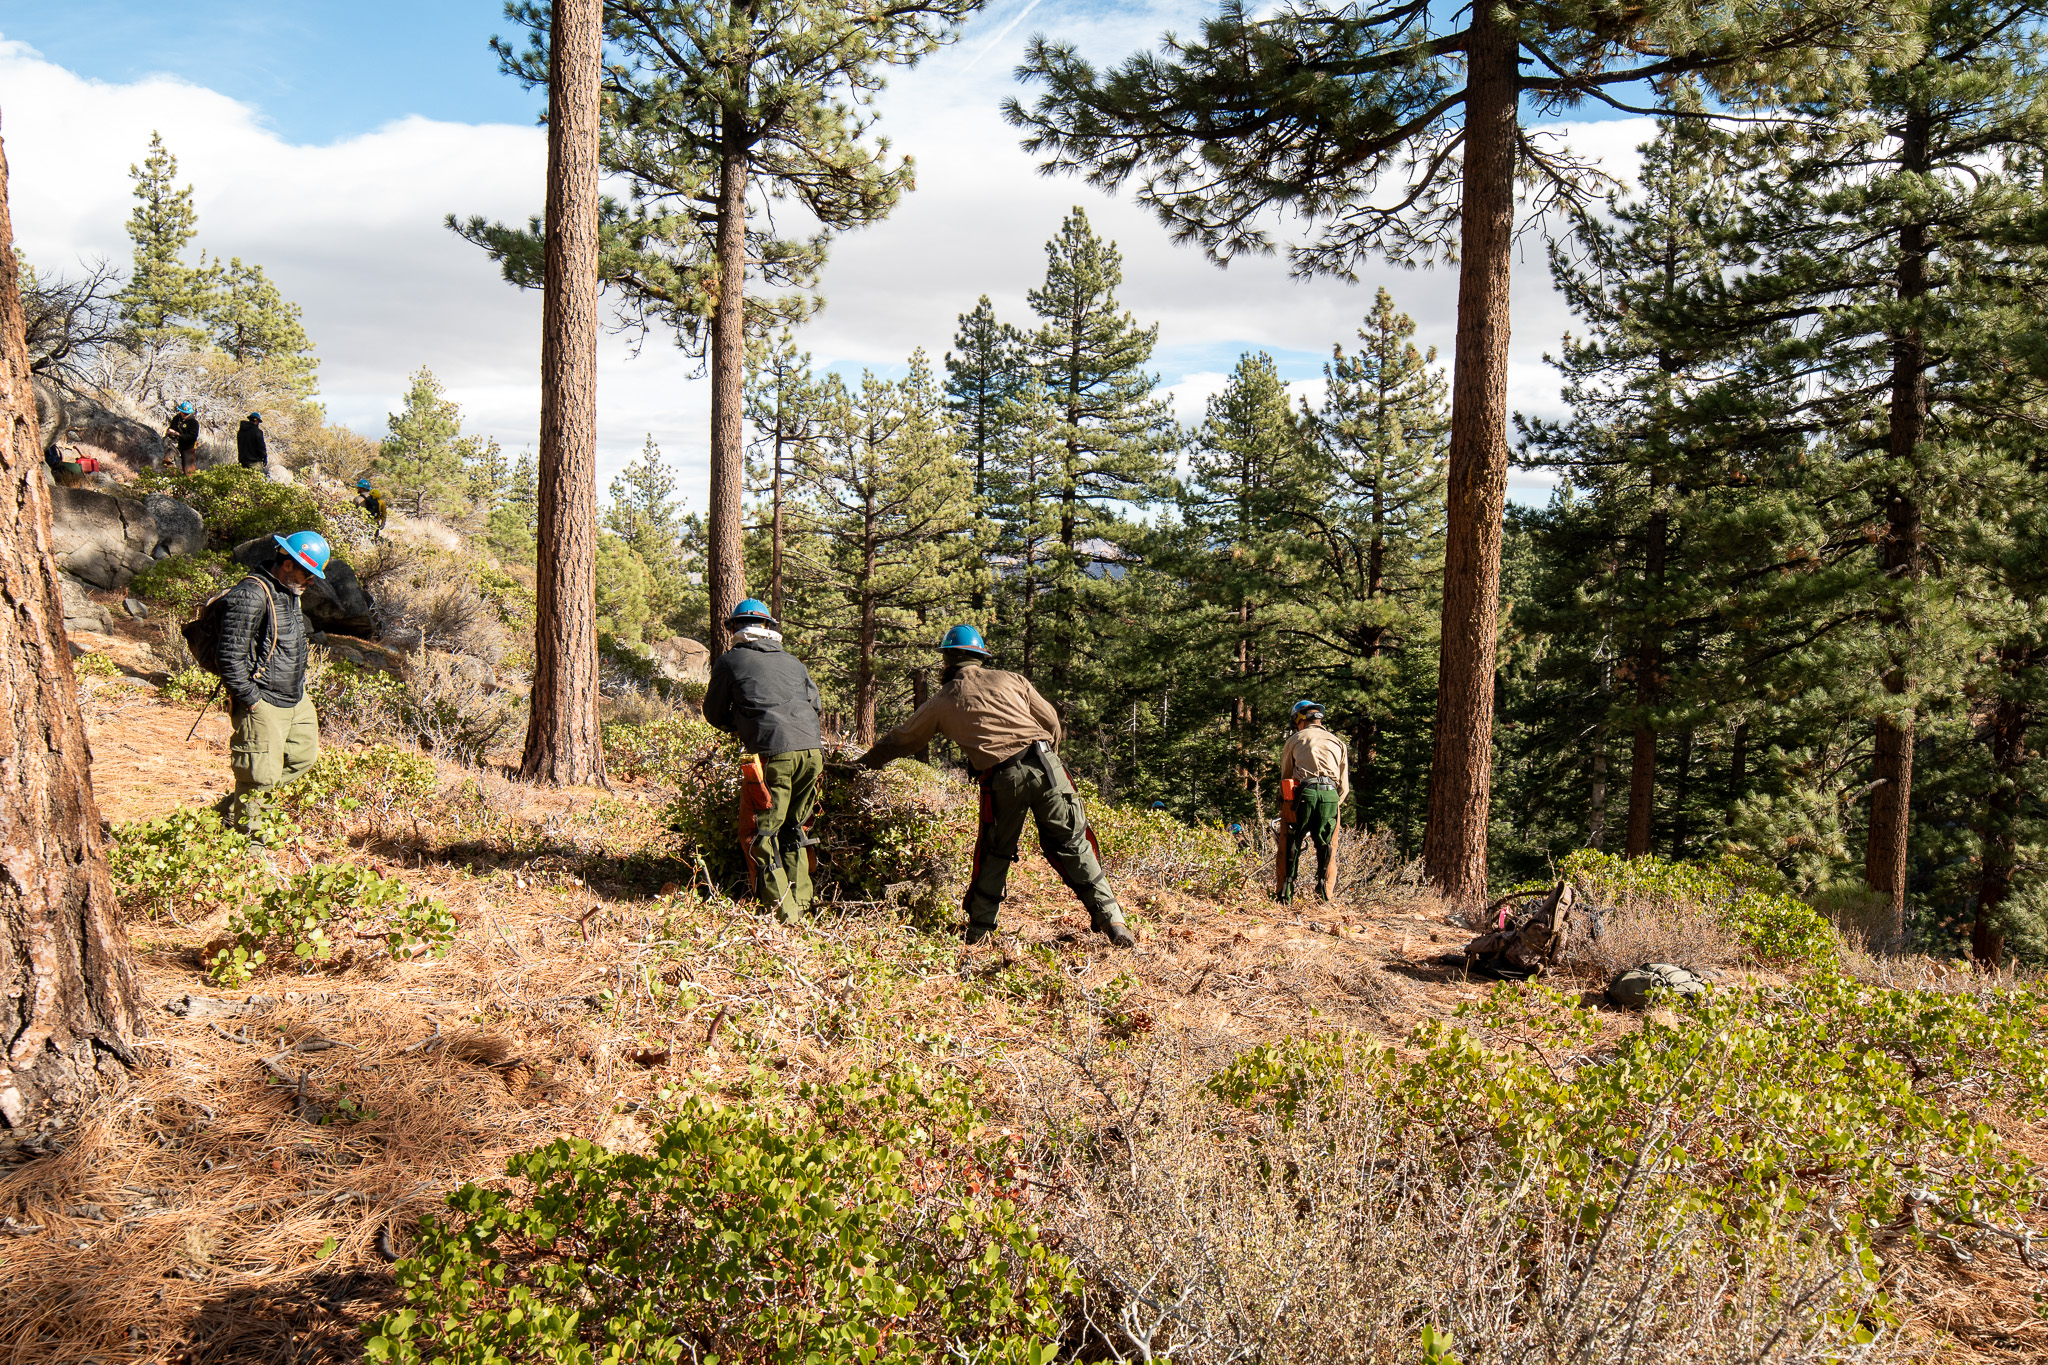
[[[602,0],[555,0],[541,276],[532,700],[520,776],[604,776],[598,731],[598,78]]]

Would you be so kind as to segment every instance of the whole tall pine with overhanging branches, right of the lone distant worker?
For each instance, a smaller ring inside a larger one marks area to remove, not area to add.
[[[1300,274],[1350,278],[1368,256],[1458,260],[1448,536],[1430,880],[1485,894],[1501,508],[1507,491],[1507,268],[1518,178],[1538,201],[1579,199],[1587,168],[1530,135],[1583,102],[1653,113],[1692,74],[1714,106],[1810,92],[1866,49],[1911,47],[1905,0],[1569,8],[1516,0],[1253,12],[1227,0],[1200,41],[1167,39],[1098,74],[1036,37],[1024,76],[1047,84],[1006,115],[1047,170],[1116,188],[1214,260],[1270,250],[1266,223],[1305,219]],[[1464,27],[1458,27],[1464,23]],[[1526,68],[1526,70],[1524,70]],[[1651,104],[1645,106],[1645,100]]]

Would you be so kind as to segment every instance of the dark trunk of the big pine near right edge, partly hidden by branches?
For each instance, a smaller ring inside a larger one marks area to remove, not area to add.
[[[1925,108],[1907,113],[1898,164],[1905,172],[1927,172],[1929,117]],[[1898,303],[1913,313],[1927,297],[1927,225],[1898,229]],[[1907,931],[1907,835],[1913,802],[1913,704],[1907,694],[1911,651],[1911,608],[1903,604],[1921,575],[1921,512],[1911,479],[1919,467],[1919,444],[1927,430],[1927,340],[1919,321],[1892,338],[1890,465],[1892,487],[1884,495],[1884,534],[1878,563],[1886,591],[1896,593],[1884,612],[1890,667],[1884,673],[1886,710],[1874,726],[1870,780],[1870,841],[1864,849],[1864,882],[1884,896],[1892,945]]]

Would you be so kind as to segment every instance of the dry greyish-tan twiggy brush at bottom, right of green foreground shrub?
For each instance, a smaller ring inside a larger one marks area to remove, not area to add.
[[[1087,1085],[1032,1093],[1059,1136],[1047,1214],[1090,1285],[1083,1359],[1407,1365],[1425,1324],[1464,1365],[1913,1357],[1825,1320],[1862,1295],[1817,1218],[1733,1259],[1714,1220],[1636,1197],[1589,1236],[1485,1144],[1446,1160],[1341,1089],[1282,1126],[1204,1095],[1200,1062],[1077,1056]]]

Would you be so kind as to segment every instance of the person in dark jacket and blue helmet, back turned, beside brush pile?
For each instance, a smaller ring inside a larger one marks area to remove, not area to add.
[[[784,925],[811,909],[811,835],[825,776],[825,700],[797,655],[782,649],[782,622],[748,598],[725,618],[733,647],[711,665],[705,720],[748,749],[743,782],[756,784],[752,833],[754,892]],[[741,792],[745,804],[748,792]],[[741,821],[745,829],[745,821]]]

